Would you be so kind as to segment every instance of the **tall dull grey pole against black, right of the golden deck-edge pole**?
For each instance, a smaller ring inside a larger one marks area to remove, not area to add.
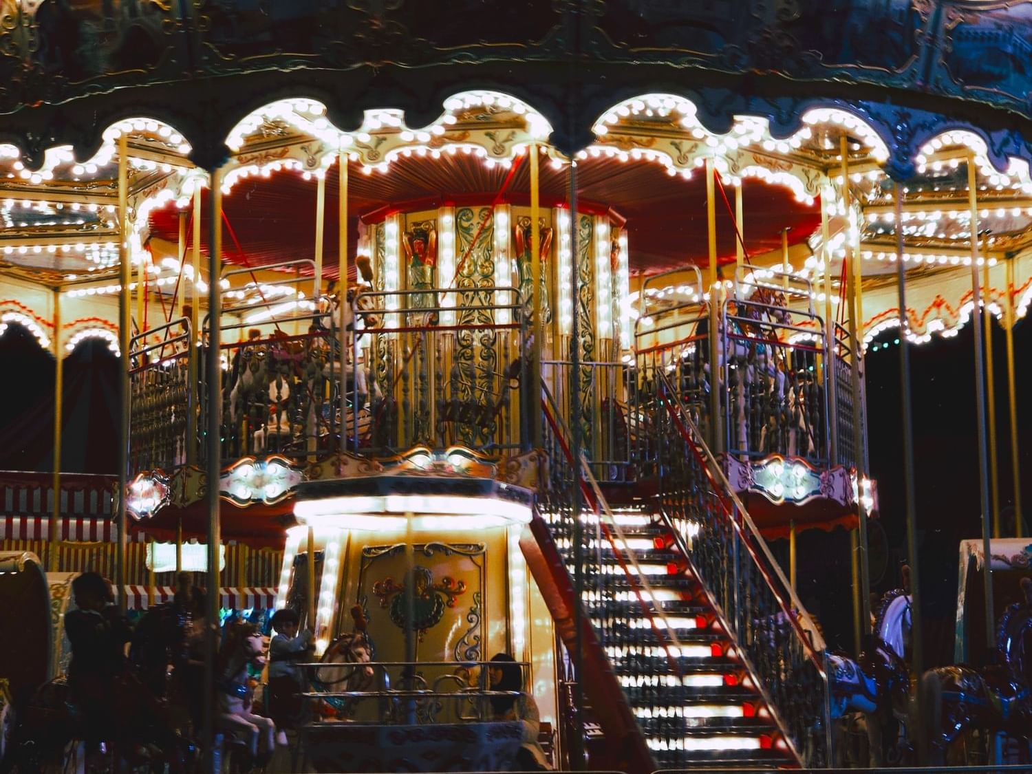
[[[900,308],[900,401],[903,424],[903,481],[905,487],[907,554],[910,563],[911,668],[921,679],[925,673],[922,637],[921,583],[917,572],[917,505],[914,494],[913,406],[910,395],[910,342],[907,338],[906,268],[903,264],[903,186],[896,184],[896,271]],[[915,691],[917,713],[921,714],[921,691]],[[923,752],[918,750],[918,755]]]

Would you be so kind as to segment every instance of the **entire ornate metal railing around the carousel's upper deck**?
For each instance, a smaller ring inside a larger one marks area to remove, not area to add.
[[[571,360],[542,361],[558,413],[580,424],[593,475],[626,481],[636,460],[650,456],[640,395],[651,394],[647,383],[659,368],[715,450],[742,461],[780,454],[816,467],[853,465],[844,331],[835,326],[829,346],[825,321],[809,309],[754,294],[728,298],[715,316],[714,379],[709,307],[684,290],[646,301],[627,361],[580,361],[577,380]],[[538,409],[527,398],[533,353],[517,289],[362,291],[346,310],[343,351],[329,299],[289,305],[263,300],[222,318],[226,465],[277,454],[303,466],[342,449],[392,456],[461,445],[499,458],[529,448]],[[203,462],[207,405],[197,386],[209,379],[205,341],[196,342],[186,319],[132,340],[133,475]]]

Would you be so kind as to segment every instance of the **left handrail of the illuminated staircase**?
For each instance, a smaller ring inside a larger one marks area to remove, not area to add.
[[[551,391],[548,386],[542,384],[542,398],[541,408],[545,414],[545,419],[552,426],[552,431],[555,433],[556,439],[559,442],[559,446],[562,449],[562,454],[567,458],[567,461],[573,465],[574,455],[570,446],[567,444],[567,438],[569,438],[570,428],[567,426],[566,422],[562,420],[559,412],[557,411],[555,405],[555,398],[552,397]],[[631,582],[631,587],[635,592],[635,596],[638,600],[638,604],[642,609],[642,614],[648,618],[649,626],[652,628],[653,634],[659,641],[660,646],[667,656],[667,663],[670,664],[671,669],[674,670],[674,674],[680,679],[682,678],[683,672],[677,658],[671,652],[671,644],[669,641],[673,641],[673,647],[677,649],[678,654],[683,652],[681,641],[678,639],[674,627],[671,625],[670,619],[667,618],[666,612],[658,605],[655,606],[655,610],[650,610],[645,599],[642,596],[642,592],[648,593],[649,598],[655,600],[655,594],[652,592],[652,586],[645,577],[644,572],[642,572],[641,565],[638,562],[638,558],[635,556],[634,551],[627,548],[626,535],[623,528],[616,521],[616,517],[613,515],[612,510],[609,508],[609,503],[606,501],[605,495],[602,493],[602,489],[599,486],[599,481],[595,479],[594,474],[591,473],[591,465],[588,463],[587,459],[584,457],[583,452],[580,455],[580,469],[581,469],[581,479],[579,482],[581,488],[581,494],[584,497],[584,502],[589,504],[591,510],[595,513],[599,518],[600,528],[605,533],[606,539],[609,541],[610,546],[613,548],[613,555],[616,557],[617,563],[619,563],[620,569],[626,575],[627,580]],[[608,520],[608,524],[605,521]],[[616,542],[613,540],[613,535],[609,527],[612,526],[616,531],[616,537],[623,544],[624,550],[621,551]],[[638,573],[636,578],[627,568],[626,561],[624,560],[623,554],[626,553],[627,558],[631,559],[631,563],[635,568],[635,572]],[[658,614],[659,618],[663,620],[664,626],[666,626],[666,635],[659,632],[658,626],[655,623],[655,615]]]

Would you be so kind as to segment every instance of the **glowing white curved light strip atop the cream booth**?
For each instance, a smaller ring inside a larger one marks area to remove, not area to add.
[[[493,497],[463,497],[452,494],[382,494],[326,497],[302,501],[294,505],[294,516],[305,524],[320,517],[342,518],[361,516],[366,519],[391,519],[390,516],[373,514],[416,513],[442,514],[448,517],[484,516],[501,519],[501,523],[530,523],[529,506]],[[401,519],[404,527],[405,517]],[[440,520],[437,520],[440,521]],[[376,528],[385,528],[384,522]],[[338,526],[328,523],[327,526]]]

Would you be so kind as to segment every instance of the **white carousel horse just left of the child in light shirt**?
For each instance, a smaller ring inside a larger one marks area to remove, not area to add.
[[[276,750],[276,723],[251,711],[248,684],[248,666],[260,669],[265,665],[264,639],[247,621],[236,620],[227,630],[216,673],[216,725],[241,741],[252,759],[267,761]]]

